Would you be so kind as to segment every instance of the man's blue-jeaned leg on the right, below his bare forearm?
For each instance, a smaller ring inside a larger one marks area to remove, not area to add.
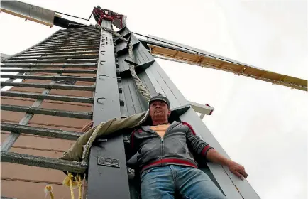
[[[197,168],[177,166],[176,185],[185,199],[226,199],[211,178]]]

